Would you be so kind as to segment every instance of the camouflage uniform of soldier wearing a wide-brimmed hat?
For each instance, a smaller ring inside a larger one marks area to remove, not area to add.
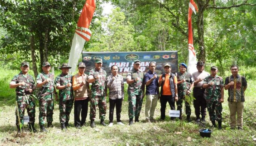
[[[55,78],[55,85],[63,86],[68,83],[72,84],[71,74],[60,74]],[[71,113],[74,102],[74,95],[72,86],[66,87],[59,91],[59,109],[60,109],[60,123],[65,123],[69,121],[69,114]]]

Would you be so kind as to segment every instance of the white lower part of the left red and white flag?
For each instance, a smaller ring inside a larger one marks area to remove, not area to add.
[[[78,34],[74,34],[74,38],[72,41],[72,46],[69,54],[69,59],[68,59],[68,65],[72,67],[69,71],[70,72],[75,72],[76,71],[76,65],[78,63],[78,59],[80,58],[80,55],[83,50],[85,39],[80,37]]]

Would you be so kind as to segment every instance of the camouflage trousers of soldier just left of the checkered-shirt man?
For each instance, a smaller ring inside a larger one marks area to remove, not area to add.
[[[98,95],[91,95],[90,101],[90,120],[93,121],[96,119],[96,107],[99,106],[99,119],[104,120],[107,105],[106,105],[106,96],[98,96]]]

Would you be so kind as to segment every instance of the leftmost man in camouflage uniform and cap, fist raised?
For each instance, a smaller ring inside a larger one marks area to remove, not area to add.
[[[29,115],[29,130],[32,132],[37,132],[35,130],[35,100],[33,96],[33,91],[35,90],[34,77],[28,74],[29,62],[22,62],[20,66],[21,72],[15,75],[10,82],[10,88],[16,88],[16,101],[18,103],[18,111],[15,112],[16,115],[16,126],[18,128],[18,133],[20,134],[21,129],[19,124],[23,126],[23,116],[25,113],[25,108],[27,109],[27,114]]]

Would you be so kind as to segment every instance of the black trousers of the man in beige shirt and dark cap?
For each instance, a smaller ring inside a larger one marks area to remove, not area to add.
[[[201,87],[194,87],[193,89],[193,96],[196,100],[193,100],[196,119],[200,118],[200,114],[206,116],[206,100],[204,98],[204,88]],[[201,109],[200,109],[201,107]]]

